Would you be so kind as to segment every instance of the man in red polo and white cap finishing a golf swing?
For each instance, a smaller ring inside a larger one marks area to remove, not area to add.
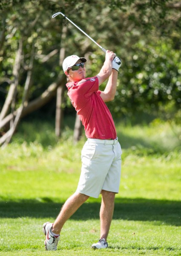
[[[87,141],[81,153],[82,169],[77,191],[67,199],[54,223],[43,224],[46,250],[57,250],[63,224],[89,197],[98,198],[100,194],[100,240],[91,248],[108,247],[107,236],[121,177],[121,146],[111,113],[105,104],[113,100],[116,93],[121,66],[116,61],[119,63],[120,59],[107,50],[103,67],[92,78],[85,78],[86,58],[71,55],[63,61],[68,96],[83,123]],[[99,86],[108,78],[105,90],[100,91]]]

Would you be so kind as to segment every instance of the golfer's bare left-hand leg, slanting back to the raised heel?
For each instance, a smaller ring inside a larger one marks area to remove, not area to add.
[[[74,214],[77,209],[89,198],[89,196],[75,192],[70,196],[62,209],[60,210],[59,215],[57,216],[53,227],[52,232],[55,234],[60,234],[60,231],[65,224],[65,222]]]

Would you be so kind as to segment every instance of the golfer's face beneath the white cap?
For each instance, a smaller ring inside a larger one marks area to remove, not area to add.
[[[80,64],[81,62],[81,60],[78,60],[75,64]],[[70,69],[68,72],[66,71],[65,74],[69,77],[71,82],[78,82],[86,77],[86,68],[80,66],[78,70],[73,71]]]

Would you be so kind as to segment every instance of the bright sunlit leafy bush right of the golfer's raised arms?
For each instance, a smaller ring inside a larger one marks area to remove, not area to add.
[[[152,46],[152,43],[138,41],[134,52],[119,76],[115,101],[109,103],[112,112],[120,116],[122,113],[134,116],[143,111],[156,115],[167,104],[172,105],[170,111],[178,110],[181,106],[181,56],[178,51],[172,49],[169,42],[158,41]]]

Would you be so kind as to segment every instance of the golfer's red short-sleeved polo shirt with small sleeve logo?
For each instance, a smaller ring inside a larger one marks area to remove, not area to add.
[[[97,76],[66,84],[68,96],[84,126],[86,137],[116,139],[112,115],[103,102]]]

